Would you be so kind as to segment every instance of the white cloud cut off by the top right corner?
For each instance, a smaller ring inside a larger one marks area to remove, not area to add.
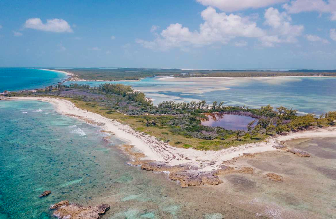
[[[304,11],[317,11],[320,13],[331,13],[330,19],[336,20],[336,0],[294,0],[290,4],[284,4],[289,13],[300,13]]]

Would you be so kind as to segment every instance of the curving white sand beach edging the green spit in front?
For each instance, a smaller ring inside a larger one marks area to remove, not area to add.
[[[146,155],[146,160],[163,161],[168,165],[189,163],[199,166],[203,171],[217,169],[223,161],[238,157],[244,153],[258,153],[278,150],[272,146],[278,145],[279,141],[287,141],[298,138],[326,138],[336,136],[336,127],[326,127],[315,130],[289,133],[287,135],[278,135],[272,138],[268,138],[263,142],[240,145],[237,147],[222,149],[220,151],[198,151],[192,148],[184,149],[172,147],[168,143],[158,141],[148,134],[137,132],[130,126],[121,124],[116,120],[106,118],[97,113],[82,110],[68,100],[50,97],[5,98],[5,100],[11,99],[39,100],[52,103],[55,106],[56,111],[59,113],[67,115],[70,114],[76,117],[81,117],[85,120],[94,120],[97,123],[103,123],[102,127],[104,130],[114,132],[118,138],[122,139],[127,144],[133,145],[135,149]]]

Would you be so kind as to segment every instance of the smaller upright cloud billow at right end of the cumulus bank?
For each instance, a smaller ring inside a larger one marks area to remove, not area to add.
[[[264,24],[271,27],[271,34],[261,38],[265,46],[273,46],[274,43],[295,43],[296,37],[304,30],[303,25],[291,24],[292,18],[286,13],[280,13],[278,9],[268,8],[265,10]]]

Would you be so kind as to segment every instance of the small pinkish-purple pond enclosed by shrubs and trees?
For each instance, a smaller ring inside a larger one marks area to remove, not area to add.
[[[247,124],[253,120],[249,116],[228,115],[223,113],[205,113],[208,120],[202,120],[202,125],[223,127],[227,130],[247,130]]]

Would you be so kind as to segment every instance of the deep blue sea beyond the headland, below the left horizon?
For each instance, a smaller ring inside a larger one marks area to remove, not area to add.
[[[67,75],[55,71],[31,68],[0,68],[0,92],[37,89],[55,85]]]

